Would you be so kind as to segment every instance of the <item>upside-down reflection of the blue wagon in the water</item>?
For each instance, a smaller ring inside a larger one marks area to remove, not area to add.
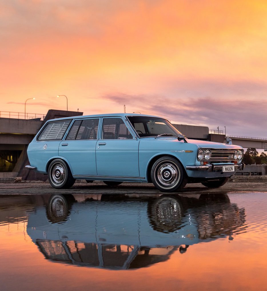
[[[109,269],[146,267],[190,245],[245,231],[245,210],[227,195],[52,195],[27,233],[45,258]]]

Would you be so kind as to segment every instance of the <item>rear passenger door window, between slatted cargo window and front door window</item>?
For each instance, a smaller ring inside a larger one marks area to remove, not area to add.
[[[66,140],[97,139],[99,119],[75,120]]]

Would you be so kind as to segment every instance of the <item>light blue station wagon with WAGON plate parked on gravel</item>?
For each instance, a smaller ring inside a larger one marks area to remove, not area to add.
[[[28,169],[54,188],[76,179],[148,182],[164,192],[187,183],[220,187],[242,169],[243,148],[187,139],[164,118],[114,113],[48,120],[29,144]]]

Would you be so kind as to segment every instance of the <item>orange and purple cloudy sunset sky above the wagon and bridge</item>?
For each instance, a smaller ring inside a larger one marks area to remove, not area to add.
[[[267,137],[267,2],[1,0],[0,111],[139,111]]]

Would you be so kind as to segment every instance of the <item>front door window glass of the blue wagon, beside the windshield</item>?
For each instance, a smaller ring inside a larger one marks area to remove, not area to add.
[[[104,118],[102,139],[133,139],[121,118]]]

